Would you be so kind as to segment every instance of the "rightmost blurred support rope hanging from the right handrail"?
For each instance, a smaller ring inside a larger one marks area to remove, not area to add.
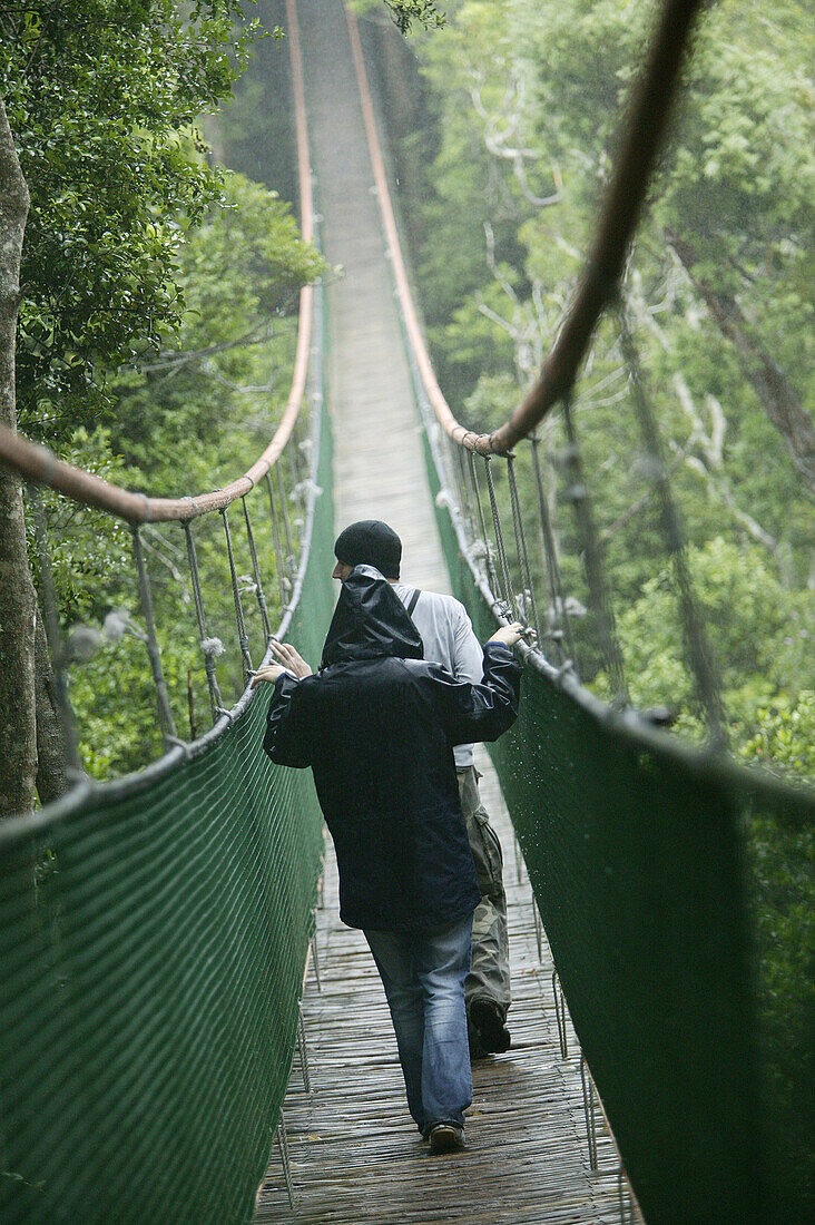
[[[620,325],[620,347],[623,349],[623,359],[629,368],[629,381],[640,425],[642,446],[652,466],[653,481],[659,496],[662,533],[677,576],[685,648],[696,681],[699,701],[705,712],[708,742],[713,750],[719,751],[727,747],[727,718],[719,692],[718,676],[713,665],[707,635],[705,633],[705,625],[694,597],[694,587],[685,554],[685,537],[670,491],[659,426],[646,394],[640,356],[629,327],[623,300],[618,304],[616,314]]]

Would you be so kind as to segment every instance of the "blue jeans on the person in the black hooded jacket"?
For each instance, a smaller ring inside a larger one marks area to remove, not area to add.
[[[420,1132],[464,1126],[473,1100],[464,1008],[473,920],[444,931],[366,931],[391,1009],[408,1109]]]

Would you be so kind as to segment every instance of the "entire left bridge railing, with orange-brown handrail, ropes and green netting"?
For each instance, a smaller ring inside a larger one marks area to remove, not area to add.
[[[292,49],[297,85],[297,40]],[[299,99],[310,239],[301,82]],[[266,690],[252,693],[248,681],[270,659],[273,630],[319,655],[333,604],[322,309],[320,285],[306,287],[281,424],[261,458],[224,489],[147,499],[15,436],[0,441],[4,462],[32,483],[34,510],[37,486],[48,485],[130,524],[137,628],[165,750],[100,784],[83,774],[75,744],[71,790],[0,823],[0,1216],[9,1225],[252,1219],[297,1044],[324,844],[310,773],[275,767],[261,752]],[[221,573],[239,639],[243,693],[228,709],[211,649],[212,593],[196,554],[207,516],[222,519]],[[43,521],[38,514],[40,587],[50,590],[59,664]],[[206,666],[212,726],[188,740],[176,734],[164,684],[156,561],[142,546],[154,523],[184,533],[176,554],[186,552],[190,631]],[[251,619],[248,595],[257,604]],[[123,692],[123,706],[127,699]]]

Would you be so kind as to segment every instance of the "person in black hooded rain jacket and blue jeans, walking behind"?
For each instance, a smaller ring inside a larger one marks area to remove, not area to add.
[[[515,720],[520,666],[510,647],[520,628],[487,643],[480,685],[456,681],[422,659],[387,579],[357,566],[320,671],[297,680],[271,665],[256,677],[275,679],[263,748],[314,772],[337,851],[341,919],[365,931],[411,1112],[434,1152],[463,1143],[472,1098],[463,979],[480,891],[452,747],[495,740]]]

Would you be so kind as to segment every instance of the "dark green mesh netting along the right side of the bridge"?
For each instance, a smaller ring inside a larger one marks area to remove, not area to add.
[[[436,514],[484,641],[495,615],[444,500]],[[811,793],[625,726],[532,666],[490,750],[646,1220],[810,1219]]]

